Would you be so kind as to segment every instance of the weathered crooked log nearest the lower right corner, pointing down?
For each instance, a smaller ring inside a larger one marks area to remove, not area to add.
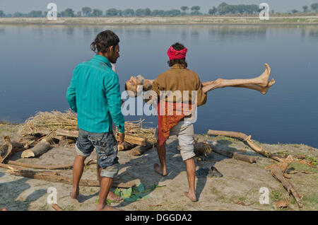
[[[290,178],[289,175],[285,173],[286,169],[288,168],[289,164],[293,162],[293,156],[288,156],[287,158],[284,158],[280,163],[274,164],[269,166],[268,168],[271,168],[271,175],[273,175],[274,178],[276,178],[285,190],[287,190],[288,194],[292,194],[295,197],[295,200],[298,204],[298,206],[301,208],[302,205],[302,196],[298,194],[298,192],[295,190],[293,185],[288,182],[286,178]]]

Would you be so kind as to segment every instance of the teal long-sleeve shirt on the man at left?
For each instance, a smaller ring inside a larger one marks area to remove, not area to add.
[[[124,133],[124,116],[117,74],[107,58],[96,54],[73,71],[66,92],[71,109],[77,113],[78,127],[87,132],[110,132],[112,121]]]

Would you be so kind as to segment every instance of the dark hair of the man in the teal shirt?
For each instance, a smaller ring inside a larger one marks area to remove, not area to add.
[[[112,30],[105,30],[99,33],[95,40],[90,44],[90,49],[93,52],[102,52],[102,54],[107,52],[108,47],[117,46],[119,43],[119,37],[112,32]],[[114,50],[114,48],[113,48]]]

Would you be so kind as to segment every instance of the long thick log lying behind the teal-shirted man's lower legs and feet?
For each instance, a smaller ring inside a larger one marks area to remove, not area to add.
[[[68,185],[73,184],[73,178],[66,177],[64,175],[59,175],[59,173],[54,173],[50,171],[25,171],[20,169],[11,169],[6,171],[6,173],[10,173],[11,175],[23,176],[25,178],[33,178],[37,180],[46,180],[54,183],[65,183]],[[82,179],[79,183],[80,186],[86,187],[99,187],[100,184],[97,180],[86,180]],[[113,188],[131,188],[136,184],[133,182],[128,183],[117,183],[116,181],[112,182]]]

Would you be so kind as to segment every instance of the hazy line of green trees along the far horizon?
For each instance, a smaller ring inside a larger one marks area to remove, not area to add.
[[[185,15],[203,15],[201,13],[200,6],[192,6],[189,8],[188,6],[181,6],[180,9],[172,9],[172,10],[151,10],[150,8],[139,8],[136,11],[132,8],[126,8],[125,10],[120,10],[117,8],[110,8],[107,11],[102,11],[98,8],[90,8],[83,7],[81,11],[77,13],[73,11],[72,8],[66,8],[64,11],[60,11],[57,13],[58,17],[102,17],[102,16],[185,16]],[[311,4],[310,6],[302,6],[302,12],[307,13],[310,11],[318,13],[318,3]],[[213,6],[208,10],[208,15],[225,15],[225,14],[255,14],[259,13],[259,6],[256,4],[240,4],[240,5],[230,5],[225,2],[220,5]],[[293,9],[291,13],[302,13],[296,9]],[[272,10],[271,13],[274,13]],[[6,14],[4,11],[0,10],[0,17],[46,17],[47,11],[30,11],[30,13],[9,13]]]

